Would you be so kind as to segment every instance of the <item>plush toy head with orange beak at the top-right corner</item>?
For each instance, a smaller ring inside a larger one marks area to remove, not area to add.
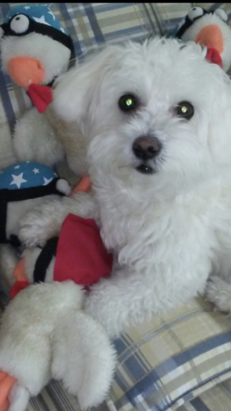
[[[228,16],[222,9],[208,12],[201,7],[193,7],[176,37],[183,42],[195,41],[207,47],[207,60],[228,71],[231,64],[231,29],[227,20]]]

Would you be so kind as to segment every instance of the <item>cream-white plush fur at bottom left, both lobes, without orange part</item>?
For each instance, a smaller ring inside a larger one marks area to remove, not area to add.
[[[10,411],[26,409],[50,378],[62,380],[82,409],[104,400],[115,353],[103,327],[81,311],[83,301],[81,287],[68,281],[30,286],[7,306],[0,364],[17,378]]]

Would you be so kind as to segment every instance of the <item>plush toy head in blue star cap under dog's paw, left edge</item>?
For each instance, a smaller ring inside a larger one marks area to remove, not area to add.
[[[0,173],[1,284],[12,285],[13,266],[20,246],[18,231],[24,215],[45,200],[69,195],[71,187],[50,167],[36,162],[18,162]]]

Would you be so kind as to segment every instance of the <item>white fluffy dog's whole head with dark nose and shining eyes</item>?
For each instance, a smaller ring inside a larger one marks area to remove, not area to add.
[[[54,108],[88,136],[93,175],[172,192],[230,162],[231,88],[205,54],[175,40],[129,42],[60,80]]]

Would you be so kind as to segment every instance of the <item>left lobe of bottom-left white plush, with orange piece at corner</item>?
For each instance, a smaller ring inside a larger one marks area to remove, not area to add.
[[[17,381],[12,384],[1,373],[1,411],[8,406],[9,411],[24,411],[29,397],[49,382],[51,335],[60,316],[82,308],[83,300],[81,287],[70,281],[31,285],[8,304],[1,319],[0,369]]]

